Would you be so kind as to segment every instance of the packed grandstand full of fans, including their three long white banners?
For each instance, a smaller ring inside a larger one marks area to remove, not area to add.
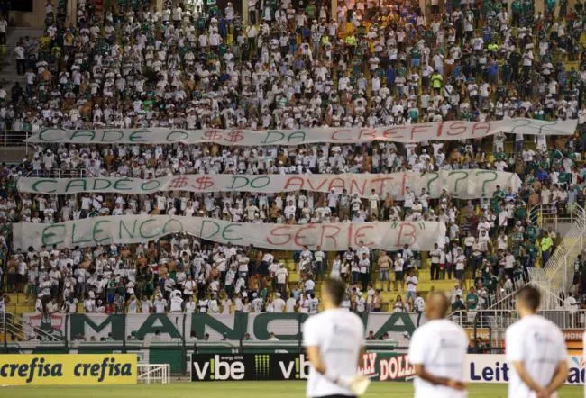
[[[32,138],[0,173],[5,308],[20,294],[43,314],[315,313],[332,276],[355,312],[422,312],[435,288],[472,311],[545,267],[563,238],[547,218],[585,200],[580,1],[244,1],[78,0],[72,21],[49,0],[43,35],[8,49],[25,85],[0,88],[0,129]],[[446,122],[462,136],[429,134]],[[371,139],[399,125],[410,137]],[[147,216],[181,233],[136,238]],[[116,219],[118,239],[96,239]],[[370,235],[398,228],[409,240]]]

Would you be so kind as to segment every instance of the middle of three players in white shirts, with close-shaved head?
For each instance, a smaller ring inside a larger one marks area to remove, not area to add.
[[[415,367],[415,398],[465,398],[464,358],[468,336],[445,319],[450,302],[442,292],[429,295],[426,318],[409,345],[409,361]]]

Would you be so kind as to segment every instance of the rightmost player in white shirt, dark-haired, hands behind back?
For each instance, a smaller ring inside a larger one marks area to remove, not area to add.
[[[539,290],[530,285],[517,296],[521,319],[508,327],[505,340],[511,365],[508,398],[554,398],[568,377],[563,333],[537,315],[540,299]]]

